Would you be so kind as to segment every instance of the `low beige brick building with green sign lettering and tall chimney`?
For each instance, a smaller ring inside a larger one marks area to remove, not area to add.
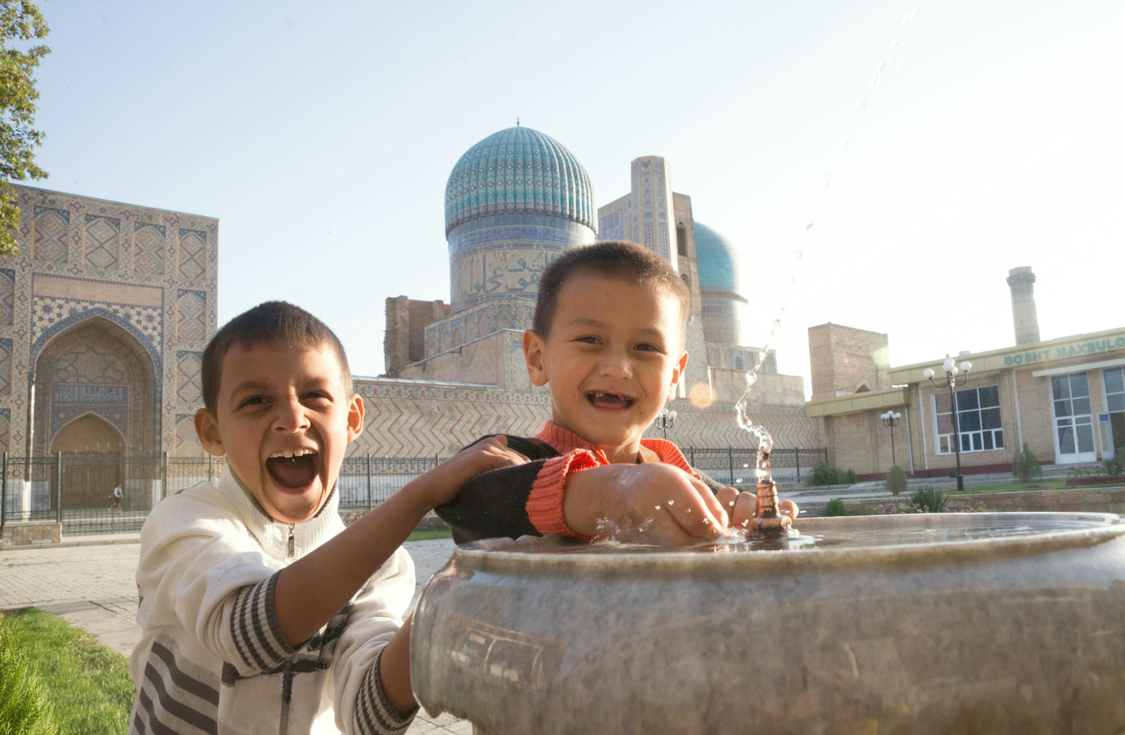
[[[966,474],[1010,471],[1012,452],[1025,443],[1042,463],[1054,464],[1096,462],[1125,446],[1125,327],[1041,339],[1034,282],[1029,267],[1010,271],[1016,344],[953,355],[958,364],[972,363],[972,370],[952,397],[922,374],[932,369],[940,378],[945,355],[885,369],[886,388],[849,391],[846,385],[839,389],[837,381],[835,396],[818,393],[818,385],[832,383],[822,374],[826,366],[846,357],[854,372],[876,374],[879,356],[862,351],[837,354],[844,350],[842,342],[826,341],[822,327],[811,328],[814,400],[806,409],[824,418],[836,466],[882,478],[892,464],[893,432],[896,460],[907,472],[947,475],[955,466],[955,420]],[[866,371],[856,365],[865,360]],[[902,414],[897,427],[883,425],[881,415],[888,410]]]

